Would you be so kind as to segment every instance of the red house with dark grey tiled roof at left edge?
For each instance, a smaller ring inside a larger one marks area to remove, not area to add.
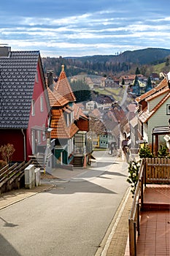
[[[0,146],[14,145],[13,162],[45,152],[49,113],[39,51],[0,47]]]

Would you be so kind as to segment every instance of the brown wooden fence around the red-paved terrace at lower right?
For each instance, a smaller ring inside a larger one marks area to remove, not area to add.
[[[147,184],[170,184],[170,159],[142,159],[138,178],[128,218],[129,250],[131,256],[136,256],[136,238],[140,234],[140,210],[144,204],[144,187]]]

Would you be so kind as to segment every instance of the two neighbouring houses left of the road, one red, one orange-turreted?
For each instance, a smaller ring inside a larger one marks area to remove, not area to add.
[[[0,146],[13,144],[13,162],[31,158],[51,170],[86,158],[88,117],[75,104],[64,67],[47,83],[39,51],[0,48]],[[81,151],[80,148],[84,148]]]

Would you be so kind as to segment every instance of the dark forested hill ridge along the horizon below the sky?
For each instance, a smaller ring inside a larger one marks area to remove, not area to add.
[[[53,70],[55,75],[61,72],[61,65],[65,65],[67,76],[86,73],[88,75],[108,74],[112,72],[129,72],[136,65],[153,65],[166,61],[170,56],[169,49],[146,48],[143,50],[127,50],[116,55],[95,55],[82,57],[42,58],[42,64],[45,69]],[[143,74],[144,75],[144,74]]]

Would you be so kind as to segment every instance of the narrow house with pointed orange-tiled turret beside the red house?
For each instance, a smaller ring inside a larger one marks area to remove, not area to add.
[[[53,74],[51,74],[53,75]],[[75,104],[76,98],[66,78],[64,66],[56,82],[48,83],[51,117],[51,143],[53,144],[53,167],[58,165],[72,167],[74,157],[82,153],[81,161],[86,154],[86,133],[88,117]],[[80,140],[82,143],[80,143]]]

